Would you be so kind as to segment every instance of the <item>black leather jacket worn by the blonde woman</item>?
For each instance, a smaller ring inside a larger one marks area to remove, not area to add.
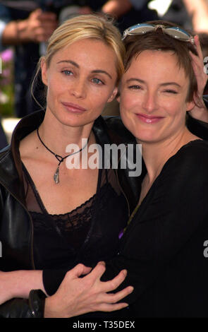
[[[24,117],[16,126],[11,138],[11,146],[0,153],[0,241],[2,257],[0,271],[35,269],[33,259],[32,220],[25,204],[22,165],[19,154],[20,140],[37,129],[44,119],[44,111]],[[114,131],[116,129],[116,132]],[[99,117],[94,121],[94,134],[101,143],[135,142],[118,117]],[[118,179],[125,194],[129,213],[137,202],[137,181],[127,177],[128,170],[118,170]],[[128,179],[128,182],[127,182]],[[13,299],[0,306],[0,317],[42,317],[44,293],[32,290],[29,300]]]

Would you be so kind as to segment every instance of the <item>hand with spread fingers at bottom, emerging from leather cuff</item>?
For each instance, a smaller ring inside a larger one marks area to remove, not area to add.
[[[69,318],[87,312],[112,312],[128,306],[126,303],[116,302],[130,294],[133,287],[129,286],[119,292],[108,294],[123,283],[127,274],[126,270],[106,282],[100,281],[105,271],[104,262],[99,262],[90,271],[91,268],[82,264],[78,264],[68,271],[57,292],[51,297],[47,297],[44,317]],[[79,278],[80,275],[85,274],[87,274],[85,277]]]

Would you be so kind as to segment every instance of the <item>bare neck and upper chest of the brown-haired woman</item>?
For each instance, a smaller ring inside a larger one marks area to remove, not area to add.
[[[169,158],[175,155],[186,143],[195,139],[197,139],[197,136],[192,135],[190,131],[185,128],[175,136],[157,143],[138,141],[138,143],[142,144],[142,157],[147,168],[149,184],[152,185]]]

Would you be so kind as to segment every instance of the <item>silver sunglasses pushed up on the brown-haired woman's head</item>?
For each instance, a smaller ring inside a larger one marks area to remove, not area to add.
[[[194,37],[181,28],[166,27],[165,25],[160,24],[153,25],[145,23],[136,24],[126,29],[123,32],[122,40],[125,40],[125,38],[129,35],[145,35],[145,33],[156,31],[158,28],[161,28],[161,30],[170,37],[181,40],[182,42],[190,42],[193,45],[195,44]]]

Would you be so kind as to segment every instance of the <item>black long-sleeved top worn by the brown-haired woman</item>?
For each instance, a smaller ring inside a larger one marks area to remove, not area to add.
[[[208,143],[196,140],[166,162],[106,265],[103,280],[128,270],[129,316],[208,316],[207,201]]]

